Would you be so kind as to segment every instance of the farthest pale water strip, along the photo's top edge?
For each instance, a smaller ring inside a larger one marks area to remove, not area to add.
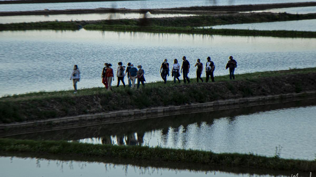
[[[38,4],[0,4],[0,11],[28,11],[44,9],[96,9],[96,8],[126,8],[126,9],[158,9],[191,6],[241,5],[313,2],[313,0],[146,0],[146,1],[110,1],[82,3],[38,3]]]

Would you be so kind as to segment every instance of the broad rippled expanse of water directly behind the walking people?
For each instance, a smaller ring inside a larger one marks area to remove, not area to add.
[[[142,65],[147,82],[161,80],[164,59],[194,64],[208,56],[216,65],[214,75],[227,75],[228,57],[238,62],[236,74],[315,67],[315,38],[240,37],[115,31],[1,31],[0,96],[40,90],[72,89],[73,65],[82,72],[78,88],[103,87],[105,62]],[[299,61],[299,62],[298,62]],[[170,68],[171,69],[171,68]],[[181,76],[182,77],[182,76]],[[172,80],[171,76],[168,80]],[[127,82],[127,78],[125,78]],[[116,79],[113,84],[116,83]]]

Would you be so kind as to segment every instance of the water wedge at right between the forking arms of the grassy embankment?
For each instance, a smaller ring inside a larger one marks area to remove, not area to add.
[[[316,19],[206,26],[214,29],[316,31]],[[200,27],[201,28],[201,27]]]

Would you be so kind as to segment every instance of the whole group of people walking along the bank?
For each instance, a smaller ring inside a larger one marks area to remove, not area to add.
[[[180,73],[183,74],[183,82],[186,83],[190,83],[190,79],[188,77],[188,73],[190,71],[190,63],[188,60],[186,60],[186,57],[183,56],[182,57],[182,66],[180,68],[180,64],[178,62],[177,59],[174,59],[174,63],[172,66],[172,77],[173,77],[173,82],[176,83],[176,80],[178,80],[178,82],[180,83]],[[169,63],[167,62],[168,60],[165,59],[164,62],[161,64],[160,67],[160,73],[161,73],[161,78],[163,79],[164,83],[167,83],[167,77],[170,75],[169,72]],[[125,82],[124,82],[124,77],[127,76],[128,78],[128,86],[130,88],[136,88],[136,79],[137,79],[137,88],[139,88],[140,83],[142,83],[143,86],[145,86],[144,82],[145,82],[145,71],[142,69],[141,65],[138,65],[137,67],[134,67],[133,64],[128,63],[127,67],[123,66],[122,62],[118,63],[118,68],[117,68],[117,78],[118,78],[118,82],[116,87],[119,87],[120,82],[122,82],[123,86],[125,87]],[[199,82],[199,80],[202,81],[202,83],[204,82],[204,80],[202,79],[201,75],[203,73],[203,63],[201,62],[200,59],[197,59],[196,64],[194,65],[194,67],[197,67],[196,70],[196,76],[197,76],[197,82]],[[233,56],[229,57],[229,60],[226,64],[226,69],[229,68],[229,79],[235,79],[234,76],[234,70],[237,67],[237,61],[233,59]],[[211,77],[212,82],[214,81],[214,70],[215,70],[215,65],[214,62],[211,61],[210,57],[207,57],[207,62],[205,64],[205,73],[206,73],[206,82],[209,81],[209,78]],[[114,72],[112,69],[112,64],[111,63],[104,63],[104,68],[102,70],[102,83],[104,84],[104,86],[106,87],[106,89],[108,91],[112,90],[112,81],[114,81]],[[77,82],[80,81],[80,71],[77,65],[74,66],[73,71],[71,73],[70,76],[70,80],[72,79],[73,81],[73,86],[74,86],[74,93],[77,93]]]

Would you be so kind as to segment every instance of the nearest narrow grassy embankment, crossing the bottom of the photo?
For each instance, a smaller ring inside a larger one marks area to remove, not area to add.
[[[0,151],[78,155],[88,157],[120,157],[154,161],[225,165],[234,167],[264,168],[316,172],[316,160],[282,159],[238,153],[213,153],[210,151],[181,150],[146,146],[94,145],[66,141],[35,141],[0,139]]]

